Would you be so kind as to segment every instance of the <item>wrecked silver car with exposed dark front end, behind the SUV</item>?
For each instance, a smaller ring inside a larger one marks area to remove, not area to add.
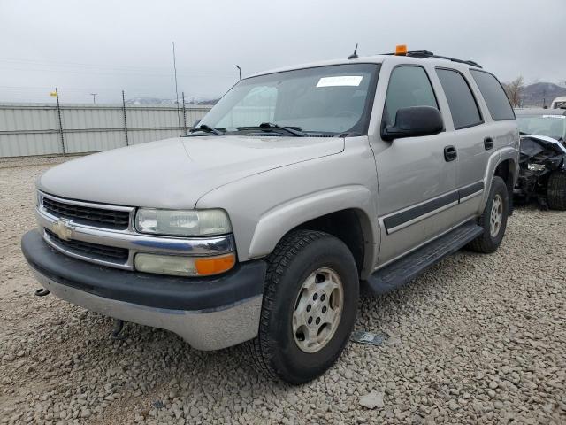
[[[566,110],[517,109],[521,135],[519,203],[536,201],[543,209],[566,210]]]

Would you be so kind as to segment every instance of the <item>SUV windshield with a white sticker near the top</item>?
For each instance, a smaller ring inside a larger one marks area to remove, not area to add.
[[[226,93],[201,125],[226,133],[272,123],[311,135],[363,135],[378,71],[379,64],[348,64],[248,78]]]

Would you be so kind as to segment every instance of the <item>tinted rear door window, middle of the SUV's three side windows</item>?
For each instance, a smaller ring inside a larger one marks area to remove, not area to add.
[[[447,97],[455,129],[478,125],[482,122],[476,99],[461,73],[437,69],[440,84]]]

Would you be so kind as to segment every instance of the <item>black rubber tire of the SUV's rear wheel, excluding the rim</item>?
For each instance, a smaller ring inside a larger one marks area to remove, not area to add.
[[[502,211],[501,211],[501,225],[499,231],[495,236],[491,235],[490,220],[492,213],[493,200],[495,197],[499,196],[502,201]],[[489,190],[489,197],[487,198],[486,208],[484,212],[478,219],[478,225],[484,228],[484,233],[478,236],[476,239],[468,243],[466,248],[470,251],[482,252],[485,254],[491,254],[497,251],[501,240],[505,235],[505,228],[507,228],[507,218],[509,215],[509,191],[507,190],[507,185],[499,176],[493,177],[492,187]]]

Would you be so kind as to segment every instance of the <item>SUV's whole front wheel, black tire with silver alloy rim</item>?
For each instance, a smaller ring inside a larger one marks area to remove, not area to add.
[[[268,262],[259,332],[247,347],[267,375],[306,383],[348,342],[359,295],[356,261],[334,236],[298,230]]]

